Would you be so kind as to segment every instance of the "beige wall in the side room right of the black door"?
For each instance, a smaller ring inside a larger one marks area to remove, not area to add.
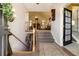
[[[77,10],[78,10],[78,12],[77,12]],[[79,7],[73,6],[72,7],[72,20],[75,21],[75,24],[72,26],[73,31],[79,31],[79,16],[78,15],[79,15]],[[78,19],[78,24],[77,24],[77,19]],[[78,28],[77,28],[77,26],[78,26]]]

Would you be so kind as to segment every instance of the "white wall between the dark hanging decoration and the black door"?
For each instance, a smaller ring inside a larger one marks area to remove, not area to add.
[[[63,46],[63,7],[56,8],[55,21],[51,23],[51,33],[55,42]]]

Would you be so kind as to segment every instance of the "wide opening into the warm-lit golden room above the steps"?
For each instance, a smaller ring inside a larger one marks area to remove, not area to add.
[[[30,29],[33,26],[37,30],[51,30],[50,12],[29,12]]]

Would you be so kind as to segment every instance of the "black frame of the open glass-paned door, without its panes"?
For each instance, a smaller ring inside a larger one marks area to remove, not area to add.
[[[70,28],[70,40],[69,41],[65,41],[65,11],[69,11],[71,13],[71,28]],[[64,21],[63,21],[63,46],[65,45],[68,45],[68,44],[71,44],[72,43],[72,11],[67,9],[67,8],[64,8],[64,14],[63,14],[63,17],[64,17]]]

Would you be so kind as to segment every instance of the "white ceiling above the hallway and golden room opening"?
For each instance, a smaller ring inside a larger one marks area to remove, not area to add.
[[[65,4],[66,3],[24,3],[24,6],[28,11],[50,11]]]

